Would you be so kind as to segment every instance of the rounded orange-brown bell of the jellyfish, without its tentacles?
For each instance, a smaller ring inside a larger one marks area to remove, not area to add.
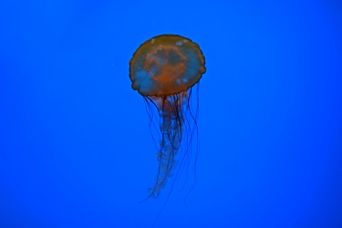
[[[152,37],[130,59],[132,88],[142,96],[171,96],[187,91],[204,72],[200,47],[183,36]]]

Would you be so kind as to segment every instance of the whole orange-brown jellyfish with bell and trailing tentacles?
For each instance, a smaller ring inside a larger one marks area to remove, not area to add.
[[[180,160],[179,153],[189,151],[193,129],[197,130],[197,109],[193,112],[190,105],[192,88],[199,84],[205,71],[200,47],[178,35],[154,36],[140,45],[130,59],[131,87],[158,113],[159,169],[148,198],[160,195]]]

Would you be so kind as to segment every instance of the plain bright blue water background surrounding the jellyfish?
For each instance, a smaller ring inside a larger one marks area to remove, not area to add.
[[[342,227],[339,1],[2,1],[0,33],[0,227],[153,225],[129,61],[165,33],[207,73],[197,181],[156,227]]]

